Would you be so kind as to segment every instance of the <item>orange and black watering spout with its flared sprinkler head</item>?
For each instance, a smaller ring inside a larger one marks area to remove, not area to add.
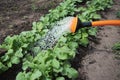
[[[101,20],[101,21],[93,21],[93,22],[81,22],[79,18],[75,17],[70,26],[71,32],[75,32],[83,27],[97,27],[97,26],[106,26],[106,25],[114,25],[120,26],[120,20]]]

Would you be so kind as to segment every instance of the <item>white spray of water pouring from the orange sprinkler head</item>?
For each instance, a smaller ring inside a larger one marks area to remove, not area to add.
[[[37,54],[41,50],[52,48],[63,34],[70,32],[72,18],[73,17],[67,17],[61,21],[58,21],[45,36],[35,42],[33,52]]]

